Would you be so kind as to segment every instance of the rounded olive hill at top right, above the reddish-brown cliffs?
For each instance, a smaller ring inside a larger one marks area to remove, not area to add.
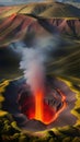
[[[45,10],[43,13],[39,14],[42,17],[80,17],[80,10],[69,5],[69,4],[64,4],[59,2],[53,3],[53,7],[49,8],[48,10]]]

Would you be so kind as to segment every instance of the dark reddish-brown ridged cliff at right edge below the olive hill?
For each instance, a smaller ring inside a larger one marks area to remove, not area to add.
[[[80,20],[54,19],[52,23],[61,34],[80,36]]]

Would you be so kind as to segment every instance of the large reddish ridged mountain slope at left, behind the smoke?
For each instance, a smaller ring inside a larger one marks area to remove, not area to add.
[[[36,19],[22,15],[12,14],[5,17],[0,24],[0,46],[9,45],[12,42],[27,38],[32,39],[35,35],[46,35],[49,34]],[[27,39],[26,39],[27,40]]]

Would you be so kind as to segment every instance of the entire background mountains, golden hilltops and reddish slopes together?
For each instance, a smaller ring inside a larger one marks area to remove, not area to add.
[[[59,2],[1,7],[0,47],[18,40],[33,43],[38,36],[56,32],[77,38],[80,36],[79,13],[79,9]]]

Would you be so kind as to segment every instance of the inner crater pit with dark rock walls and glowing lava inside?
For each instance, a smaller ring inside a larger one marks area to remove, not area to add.
[[[37,94],[33,94],[31,87],[24,84],[19,91],[18,104],[27,121],[41,121],[46,126],[54,122],[67,106],[66,95],[59,88],[48,84],[45,93],[39,91]]]

